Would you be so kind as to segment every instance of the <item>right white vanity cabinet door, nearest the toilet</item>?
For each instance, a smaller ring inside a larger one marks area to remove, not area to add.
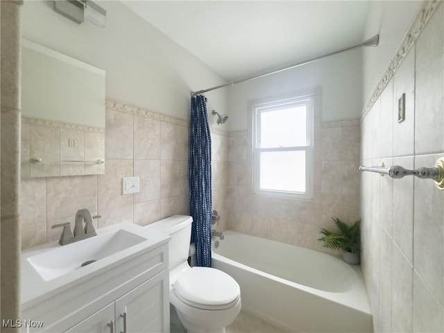
[[[116,331],[169,332],[168,283],[166,270],[116,300]]]

